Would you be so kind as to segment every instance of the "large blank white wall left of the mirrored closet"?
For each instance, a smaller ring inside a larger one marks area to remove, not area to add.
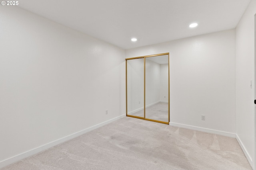
[[[14,6],[0,23],[0,167],[125,114],[124,50]]]

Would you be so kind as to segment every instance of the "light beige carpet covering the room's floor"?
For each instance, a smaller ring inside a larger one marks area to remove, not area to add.
[[[234,138],[124,117],[2,170],[252,170]]]

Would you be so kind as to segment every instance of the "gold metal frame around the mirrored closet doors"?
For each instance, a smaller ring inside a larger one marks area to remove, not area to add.
[[[146,58],[147,57],[155,57],[155,56],[160,56],[160,55],[168,55],[168,122],[165,121],[158,121],[158,120],[154,120],[154,119],[146,119]],[[134,116],[134,115],[128,115],[127,112],[127,60],[132,60],[132,59],[141,59],[144,58],[144,117],[139,117],[139,116]],[[125,63],[126,63],[126,116],[128,117],[135,117],[138,119],[144,119],[144,120],[148,120],[148,121],[154,121],[154,122],[158,122],[158,123],[164,123],[164,124],[168,124],[170,122],[170,56],[169,53],[162,53],[162,54],[155,54],[155,55],[146,55],[146,56],[141,56],[141,57],[133,57],[133,58],[128,58],[125,59]]]

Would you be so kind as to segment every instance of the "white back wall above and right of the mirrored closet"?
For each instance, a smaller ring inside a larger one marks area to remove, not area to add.
[[[171,124],[235,136],[235,30],[126,50],[126,58],[168,52]]]

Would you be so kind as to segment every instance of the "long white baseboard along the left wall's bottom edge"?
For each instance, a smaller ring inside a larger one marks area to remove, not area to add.
[[[52,142],[47,143],[47,144],[45,144],[45,145],[42,145],[42,146],[40,146],[40,147],[37,147],[37,148],[31,149],[31,150],[28,150],[28,151],[26,151],[26,152],[24,152],[24,153],[18,154],[18,155],[16,155],[16,156],[13,156],[13,157],[8,158],[8,159],[6,159],[6,160],[1,160],[1,161],[0,161],[0,168],[3,168],[4,166],[8,166],[8,165],[10,165],[10,164],[12,164],[12,163],[15,163],[15,162],[18,162],[18,161],[20,161],[20,160],[22,160],[22,159],[24,159],[24,158],[27,158],[28,156],[32,156],[32,155],[34,155],[34,154],[37,154],[37,153],[39,153],[39,152],[42,152],[43,150],[49,149],[49,148],[51,148],[51,147],[54,147],[55,145],[58,145],[58,144],[60,144],[60,143],[63,143],[63,142],[65,142],[65,141],[68,141],[68,140],[73,139],[73,138],[75,138],[75,137],[78,137],[78,136],[80,136],[80,135],[83,135],[83,134],[85,134],[85,133],[88,133],[88,132],[90,132],[90,131],[92,131],[92,130],[94,130],[94,129],[97,129],[97,128],[103,126],[103,125],[106,125],[106,124],[111,123],[111,122],[113,122],[113,121],[116,121],[116,120],[118,120],[118,119],[121,119],[122,117],[125,117],[125,116],[126,116],[126,114],[120,115],[120,116],[115,117],[115,118],[113,118],[113,119],[110,119],[110,120],[108,120],[108,121],[104,121],[104,122],[102,122],[102,123],[100,123],[100,124],[98,124],[98,125],[94,125],[94,126],[92,126],[92,127],[89,127],[89,128],[87,128],[87,129],[84,129],[84,130],[82,130],[82,131],[78,131],[78,132],[76,132],[76,133],[73,133],[73,134],[71,134],[71,135],[68,135],[68,136],[66,136],[66,137],[63,137],[63,138],[61,138],[61,139],[58,139],[58,140],[56,140],[56,141],[52,141]]]

